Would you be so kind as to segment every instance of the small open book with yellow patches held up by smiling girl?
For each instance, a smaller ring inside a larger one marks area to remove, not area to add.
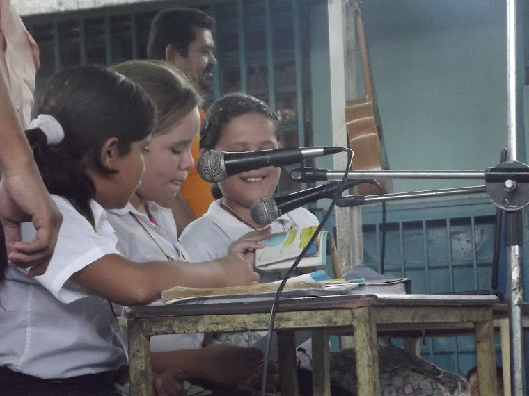
[[[255,251],[255,267],[260,270],[277,270],[290,268],[301,251],[307,246],[317,226],[274,233],[267,240],[262,240],[265,247]],[[327,231],[317,236],[313,245],[298,267],[318,267],[327,261]]]

